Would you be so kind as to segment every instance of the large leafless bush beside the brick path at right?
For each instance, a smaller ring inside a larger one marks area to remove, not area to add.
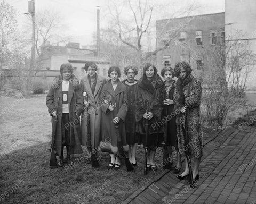
[[[237,39],[227,39],[204,55],[202,102],[212,126],[225,125],[227,114],[243,102],[246,79],[255,64],[246,41]]]

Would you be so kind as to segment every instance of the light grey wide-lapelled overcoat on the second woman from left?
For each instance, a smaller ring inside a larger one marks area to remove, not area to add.
[[[88,101],[90,102],[88,113],[90,115],[90,128],[91,128],[91,145],[92,148],[98,149],[99,143],[101,141],[101,116],[102,110],[100,108],[100,94],[104,84],[107,80],[97,75],[96,87],[94,94],[90,87],[88,76],[85,76],[81,82],[80,86],[82,92],[86,92],[88,95]],[[85,99],[84,99],[85,100]],[[86,146],[87,144],[87,108],[84,105],[83,113],[81,115],[81,145]]]

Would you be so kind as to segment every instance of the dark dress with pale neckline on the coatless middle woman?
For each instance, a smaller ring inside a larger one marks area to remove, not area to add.
[[[126,82],[127,80],[122,81],[126,86],[127,99],[128,99],[128,111],[125,118],[125,133],[128,145],[134,145],[138,143],[138,135],[136,131],[136,120],[135,120],[135,94],[138,89],[137,81],[131,85]]]

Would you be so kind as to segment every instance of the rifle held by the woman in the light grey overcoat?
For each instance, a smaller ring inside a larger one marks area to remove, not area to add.
[[[83,93],[84,100],[88,102],[88,95],[86,92]],[[89,115],[89,107],[86,108],[86,114],[87,114],[87,149],[91,152],[91,164],[92,167],[99,168],[99,162],[96,157],[96,150],[92,150],[92,142],[91,142],[91,126],[90,126],[90,115]]]

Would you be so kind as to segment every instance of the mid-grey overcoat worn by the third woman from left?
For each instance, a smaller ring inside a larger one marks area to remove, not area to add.
[[[102,89],[101,92],[101,101],[107,100],[109,103],[115,105],[114,111],[109,111],[109,104],[101,103],[101,109],[103,111],[102,114],[102,141],[110,142],[111,146],[117,147],[117,136],[115,124],[113,123],[113,119],[115,117],[119,117],[121,120],[119,121],[119,134],[121,136],[122,145],[127,145],[126,142],[126,134],[125,134],[125,117],[127,114],[127,94],[126,87],[123,83],[118,81],[117,87],[114,90],[111,84],[111,80],[109,80]]]

